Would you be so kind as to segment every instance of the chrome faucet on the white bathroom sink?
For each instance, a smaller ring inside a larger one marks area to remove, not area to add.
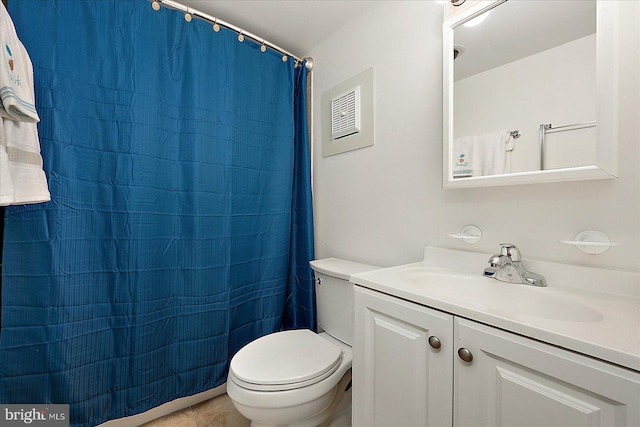
[[[484,276],[508,283],[547,286],[544,277],[525,270],[521,260],[522,256],[516,245],[501,243],[500,254],[489,258],[489,267],[484,269]]]

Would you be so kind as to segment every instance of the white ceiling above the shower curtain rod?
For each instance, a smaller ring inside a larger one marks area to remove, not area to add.
[[[350,19],[379,1],[367,0],[178,0],[305,56]]]

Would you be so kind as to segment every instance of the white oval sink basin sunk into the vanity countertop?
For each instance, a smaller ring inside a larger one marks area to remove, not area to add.
[[[553,288],[505,283],[480,274],[451,274],[438,268],[409,267],[401,269],[398,276],[429,298],[522,322],[603,320],[598,310],[558,294]]]

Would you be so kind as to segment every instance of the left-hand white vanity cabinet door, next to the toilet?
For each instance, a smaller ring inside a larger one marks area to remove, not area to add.
[[[354,289],[353,425],[450,426],[453,316]]]

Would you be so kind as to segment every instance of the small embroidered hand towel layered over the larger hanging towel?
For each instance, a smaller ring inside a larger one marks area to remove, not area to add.
[[[0,44],[0,116],[37,123],[31,58],[4,5],[0,6]]]

